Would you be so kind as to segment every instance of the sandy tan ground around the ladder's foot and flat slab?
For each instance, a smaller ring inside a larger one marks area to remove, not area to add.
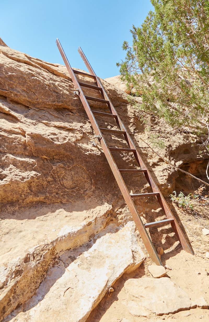
[[[205,257],[206,251],[209,251],[209,235],[204,236],[202,234],[203,228],[209,228],[208,205],[201,205],[196,202],[194,211],[182,210],[175,204],[170,204],[170,206],[181,220],[182,228],[185,229],[195,255],[183,251],[177,241],[173,243],[170,249],[165,250],[164,247],[165,253],[161,260],[163,265],[168,265],[171,268],[171,270],[167,270],[166,276],[186,291],[192,301],[204,297],[206,302],[209,303],[209,275],[206,273],[206,271],[209,272],[209,259]],[[165,235],[159,230],[159,241],[161,243],[163,243],[164,237]],[[143,251],[146,252],[145,249]],[[163,316],[156,314],[147,317],[131,315],[125,305],[127,294],[124,283],[130,278],[138,279],[143,275],[151,276],[148,271],[148,265],[151,263],[151,260],[147,258],[138,270],[131,275],[123,275],[122,278],[117,280],[113,286],[114,292],[106,294],[88,317],[87,322],[209,321],[209,310],[198,307]],[[172,298],[170,300],[172,301]]]

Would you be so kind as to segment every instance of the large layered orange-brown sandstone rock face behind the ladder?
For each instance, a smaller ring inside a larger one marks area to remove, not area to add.
[[[81,77],[80,81],[89,79]],[[142,157],[147,157],[148,167],[154,168],[156,182],[169,195],[178,173],[172,169],[165,171],[166,164],[140,140],[141,137],[146,140],[147,134],[129,105],[127,94],[102,82]],[[101,148],[91,145],[94,132],[73,90],[64,66],[15,51],[0,40],[2,319],[34,295],[61,252],[83,245],[90,247],[87,245],[95,242],[99,233],[105,233],[109,225],[114,224],[119,230],[131,220]],[[85,93],[95,96],[94,90]],[[105,111],[96,102],[92,108]],[[108,124],[99,118],[98,123],[101,127]],[[195,150],[192,144],[188,149],[184,139],[187,137],[184,134],[176,139],[168,135],[167,146],[172,146],[172,157],[178,166],[188,159],[192,163],[198,155],[198,148]],[[107,134],[105,138],[113,146],[113,137]],[[114,138],[114,146],[123,145],[120,137]],[[187,151],[184,158],[180,145]],[[134,164],[131,155],[114,157],[120,168],[131,168]],[[199,163],[205,161],[202,155],[198,157]],[[191,167],[194,171],[200,168],[194,163]],[[124,180],[130,192],[149,191],[144,176],[124,175]],[[136,201],[136,205],[145,222],[163,216],[155,200],[150,204],[143,199]],[[155,236],[152,237],[154,242]],[[132,266],[132,257],[129,259],[128,266]],[[118,276],[119,273],[115,279]],[[104,285],[100,290],[104,295]],[[99,296],[95,298],[98,300]]]

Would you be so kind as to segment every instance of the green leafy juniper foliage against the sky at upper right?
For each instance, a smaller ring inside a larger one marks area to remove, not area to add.
[[[141,110],[200,130],[209,106],[209,1],[151,3],[155,11],[132,27],[132,46],[123,43],[122,79],[142,96]]]

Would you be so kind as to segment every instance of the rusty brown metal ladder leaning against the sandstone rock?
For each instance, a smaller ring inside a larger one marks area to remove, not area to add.
[[[72,79],[74,87],[76,89],[74,91],[74,94],[76,94],[80,97],[80,100],[84,106],[86,114],[92,124],[94,131],[95,131],[96,137],[93,142],[93,146],[96,146],[97,143],[100,142],[101,147],[102,147],[104,154],[106,156],[106,159],[111,167],[111,170],[112,170],[114,177],[117,181],[117,184],[123,194],[123,198],[125,199],[125,202],[130,210],[130,213],[132,214],[133,220],[134,220],[136,227],[140,233],[141,239],[144,242],[144,245],[150,255],[151,260],[154,263],[156,263],[157,265],[162,265],[162,262],[159,259],[159,256],[154,248],[154,245],[150,239],[150,236],[149,236],[146,228],[154,227],[154,226],[165,226],[165,225],[168,225],[168,223],[171,224],[171,227],[172,227],[173,231],[175,232],[179,242],[181,243],[182,248],[185,251],[194,255],[192,247],[189,245],[188,241],[186,240],[179,224],[177,223],[175,217],[173,216],[171,210],[169,209],[168,204],[166,203],[158,186],[155,184],[152,176],[150,175],[148,168],[146,167],[143,160],[141,159],[141,156],[140,156],[139,152],[137,151],[130,135],[126,131],[122,120],[120,119],[119,115],[117,114],[116,110],[114,109],[113,104],[111,103],[110,99],[108,98],[108,96],[105,92],[105,89],[102,86],[102,83],[100,82],[99,78],[96,76],[95,72],[93,71],[91,65],[89,64],[88,60],[86,59],[86,56],[82,52],[81,48],[80,47],[78,48],[78,52],[80,53],[83,61],[85,62],[86,67],[87,67],[90,74],[73,70],[68,62],[68,59],[67,59],[65,52],[59,42],[59,39],[57,39],[56,43],[57,43],[57,46],[58,46],[59,51],[61,53],[61,56],[65,62],[65,65],[68,69],[70,78]],[[95,85],[90,85],[90,84],[78,81],[75,74],[86,76],[86,77],[93,79],[95,81]],[[98,90],[98,92],[101,93],[103,99],[85,96],[82,91],[82,87],[87,87],[87,88],[90,88],[93,90]],[[89,100],[107,104],[107,106],[110,110],[110,113],[103,113],[103,112],[92,110],[89,106],[89,103],[88,103]],[[114,130],[114,129],[109,129],[109,128],[99,128],[97,121],[95,119],[95,116],[100,116],[100,117],[104,117],[104,118],[114,118],[119,129]],[[112,133],[113,135],[114,134],[122,134],[128,144],[128,148],[108,147],[107,143],[105,142],[103,132],[109,132],[109,133]],[[141,169],[132,169],[132,170],[131,169],[118,169],[118,167],[114,161],[114,158],[111,154],[111,151],[132,152]],[[123,177],[121,175],[121,173],[123,173],[123,172],[142,173],[145,176],[145,178],[147,179],[147,181],[152,189],[152,193],[130,194],[126,185],[125,185]],[[140,215],[136,209],[136,206],[133,202],[133,198],[149,197],[149,196],[156,196],[156,198],[160,204],[160,207],[162,208],[162,211],[166,215],[167,219],[143,224],[143,222],[140,218]]]

